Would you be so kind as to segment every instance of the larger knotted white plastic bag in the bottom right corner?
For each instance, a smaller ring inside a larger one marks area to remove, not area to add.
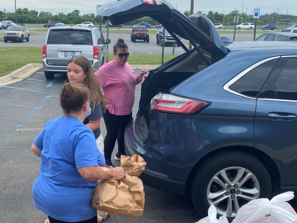
[[[232,223],[297,223],[297,214],[287,203],[294,198],[289,191],[275,196],[271,201],[267,198],[252,200],[239,208]]]

